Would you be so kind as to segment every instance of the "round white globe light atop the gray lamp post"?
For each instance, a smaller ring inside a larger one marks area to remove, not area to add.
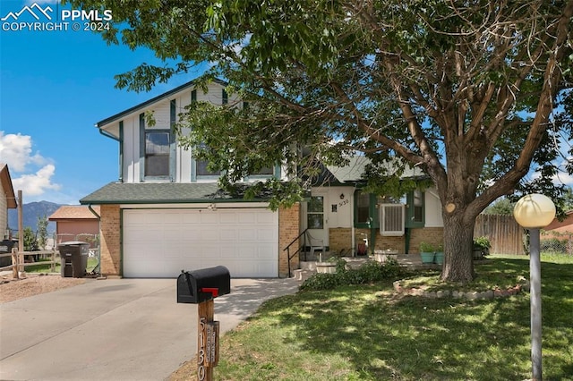
[[[517,201],[513,216],[517,224],[523,227],[541,228],[551,224],[555,218],[555,204],[543,194],[528,194]]]

